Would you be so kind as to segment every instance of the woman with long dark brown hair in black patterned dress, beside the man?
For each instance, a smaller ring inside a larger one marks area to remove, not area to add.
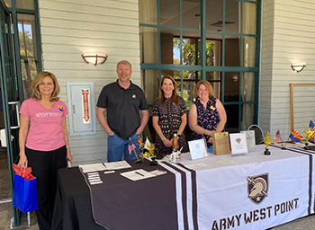
[[[184,127],[187,124],[187,111],[184,99],[177,95],[175,80],[171,75],[162,78],[158,89],[157,100],[153,103],[152,123],[157,131],[157,155],[172,153],[173,136],[178,137],[179,149],[188,152],[184,137]]]

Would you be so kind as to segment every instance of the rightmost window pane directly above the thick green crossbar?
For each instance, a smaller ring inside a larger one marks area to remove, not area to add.
[[[254,37],[243,37],[243,66],[256,66],[256,41]]]

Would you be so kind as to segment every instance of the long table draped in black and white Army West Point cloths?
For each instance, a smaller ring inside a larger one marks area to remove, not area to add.
[[[131,161],[131,168],[103,173],[92,199],[77,167],[61,169],[53,229],[266,229],[313,214],[315,152],[269,149],[269,156],[257,146],[255,153],[195,161],[183,154],[181,164]],[[120,174],[157,168],[166,174],[140,181]]]

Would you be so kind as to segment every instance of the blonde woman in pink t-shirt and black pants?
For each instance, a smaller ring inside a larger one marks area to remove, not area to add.
[[[37,177],[40,229],[50,229],[57,190],[57,171],[71,163],[67,137],[67,106],[59,101],[55,75],[43,71],[31,84],[31,98],[21,106],[20,167]]]

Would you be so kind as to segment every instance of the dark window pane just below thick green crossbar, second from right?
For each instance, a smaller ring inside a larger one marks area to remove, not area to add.
[[[224,102],[239,102],[239,73],[224,73]]]

